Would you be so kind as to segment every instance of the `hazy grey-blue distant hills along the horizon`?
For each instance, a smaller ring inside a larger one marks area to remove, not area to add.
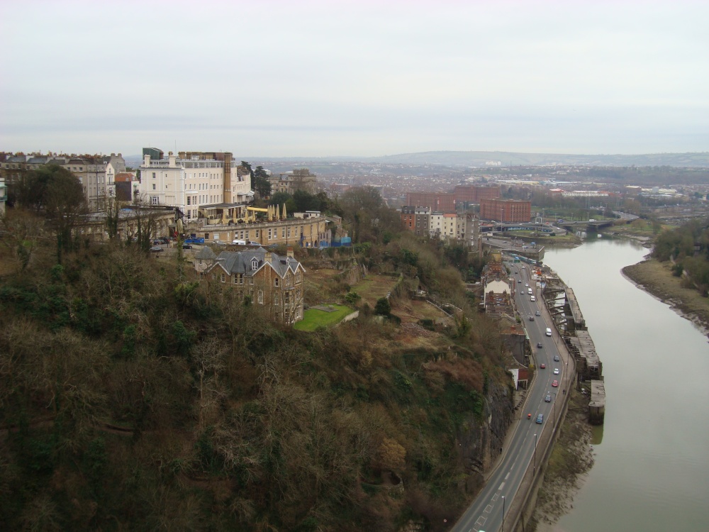
[[[400,153],[381,157],[253,157],[238,156],[239,160],[288,162],[296,165],[308,163],[327,164],[330,162],[382,162],[400,165],[445,165],[445,166],[485,166],[486,162],[498,161],[502,166],[542,166],[542,165],[586,165],[586,166],[672,166],[709,167],[709,152],[694,153],[646,153],[640,155],[570,155],[568,153],[516,153],[516,152],[460,152],[437,151]],[[140,155],[128,155],[125,162],[137,167],[142,162]]]

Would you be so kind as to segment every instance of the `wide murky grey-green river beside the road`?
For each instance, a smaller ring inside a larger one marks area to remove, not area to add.
[[[596,462],[555,531],[709,530],[709,344],[623,277],[647,253],[606,238],[545,253],[576,293],[606,394]]]

